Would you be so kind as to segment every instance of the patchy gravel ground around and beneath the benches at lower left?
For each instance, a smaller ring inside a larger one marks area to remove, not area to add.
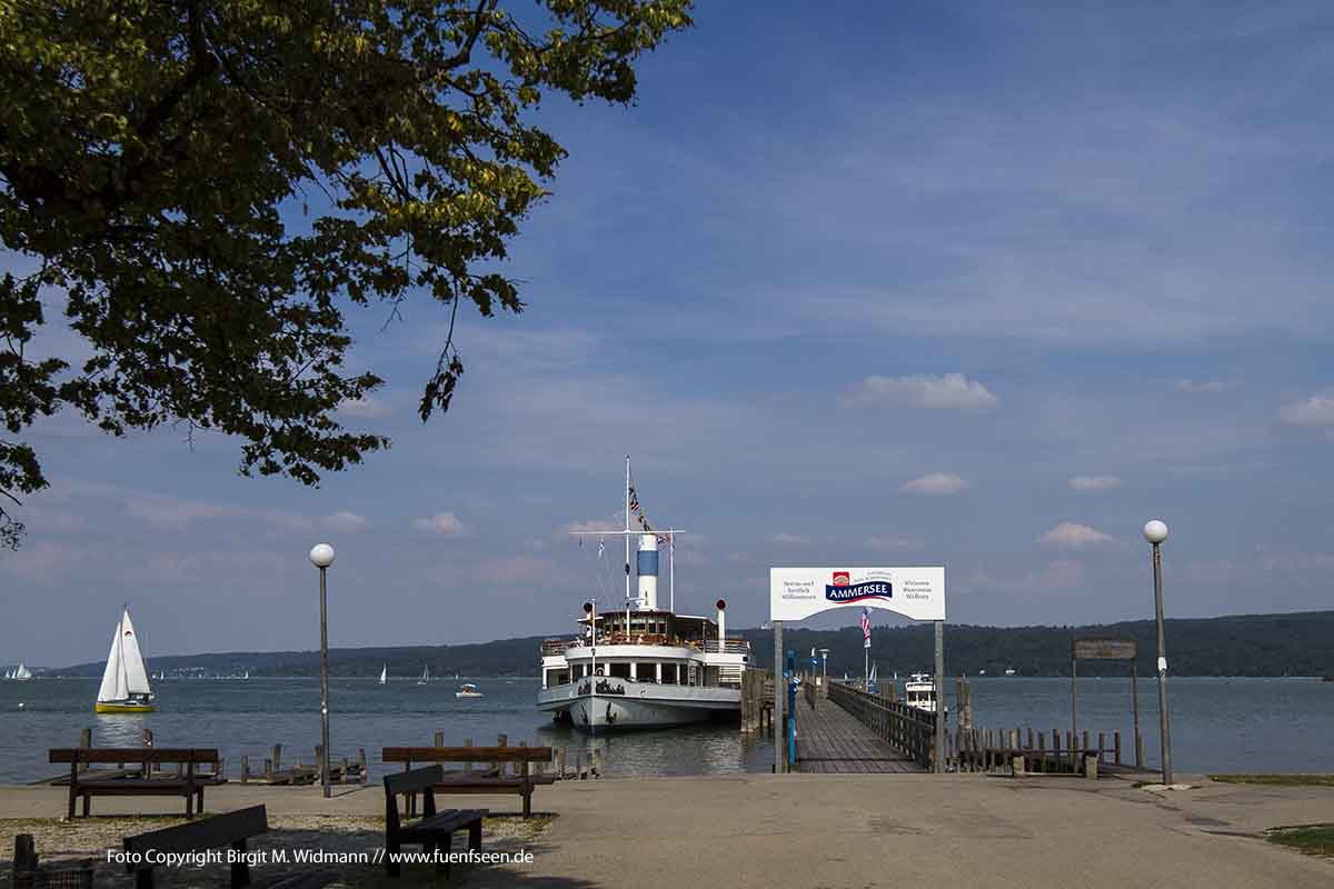
[[[93,885],[97,889],[129,889],[135,885],[133,874],[128,873],[121,864],[108,862],[108,849],[121,849],[121,840],[127,836],[160,830],[177,824],[184,824],[184,818],[177,817],[107,817],[107,818],[0,818],[0,837],[5,838],[5,860],[0,864],[0,886],[8,886],[12,862],[9,852],[13,849],[12,837],[20,833],[31,833],[36,842],[37,856],[47,866],[63,866],[92,860]],[[518,852],[534,841],[550,825],[550,817],[523,818],[487,818],[482,826],[482,849],[484,852]],[[384,818],[362,816],[271,816],[268,833],[251,841],[248,849],[252,852],[272,853],[272,850],[285,850],[287,864],[272,860],[252,868],[252,880],[263,880],[279,873],[300,873],[309,870],[329,870],[339,874],[338,881],[331,886],[411,886],[423,881],[434,880],[434,868],[428,864],[411,864],[403,866],[403,878],[388,880],[384,877],[382,864],[354,862],[354,864],[296,864],[291,860],[292,852],[297,849],[312,849],[324,853],[354,853],[370,857],[384,846]],[[466,837],[456,834],[455,852],[467,848]],[[407,852],[415,852],[416,846],[408,846]],[[268,857],[268,856],[265,856]],[[486,866],[486,865],[479,865]],[[460,876],[467,874],[468,865],[455,865],[451,884],[458,884]],[[161,886],[199,886],[221,888],[231,885],[231,869],[225,864],[207,864],[203,868],[157,868],[156,876]],[[440,878],[443,882],[443,877]]]

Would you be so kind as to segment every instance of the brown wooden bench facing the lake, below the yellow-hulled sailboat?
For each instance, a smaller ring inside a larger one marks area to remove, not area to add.
[[[199,812],[204,810],[204,788],[224,784],[227,778],[217,772],[219,757],[215,749],[171,749],[171,748],[56,748],[51,750],[51,762],[68,762],[69,777],[59,784],[69,786],[69,817],[75,817],[75,802],[83,797],[83,814],[88,817],[89,802],[95,796],[169,796],[185,797],[185,817],[193,818],[196,802]],[[128,777],[119,769],[104,774],[105,769],[81,770],[81,765],[140,764],[137,777]],[[181,774],[153,776],[155,765],[181,765]],[[211,772],[199,772],[199,765],[212,765]]]

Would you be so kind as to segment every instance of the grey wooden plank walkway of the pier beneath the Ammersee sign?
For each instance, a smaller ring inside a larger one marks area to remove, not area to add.
[[[827,698],[796,701],[796,770],[818,773],[924,772]]]

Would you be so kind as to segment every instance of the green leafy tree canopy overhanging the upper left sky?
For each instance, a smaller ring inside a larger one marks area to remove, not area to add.
[[[690,5],[0,0],[0,237],[35,267],[0,281],[0,424],[184,423],[316,484],[388,444],[335,416],[382,383],[346,371],[340,307],[418,295],[450,316],[419,413],[447,411],[459,305],[523,308],[496,268],[564,157],[530,112],[630,103]],[[25,355],[49,292],[77,367]],[[45,484],[0,439],[0,494]],[[0,528],[16,545],[4,504]]]

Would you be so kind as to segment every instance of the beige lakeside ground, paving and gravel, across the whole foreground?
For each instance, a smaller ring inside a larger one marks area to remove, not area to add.
[[[1185,778],[1186,790],[1129,781],[984,776],[743,776],[566,782],[542,788],[523,822],[488,820],[488,849],[531,850],[526,865],[456,872],[468,886],[984,885],[1221,889],[1334,885],[1334,861],[1263,841],[1282,825],[1334,822],[1334,788],[1274,788]],[[455,806],[515,813],[516,797]],[[383,845],[383,793],[228,785],[208,812],[264,804],[275,830],[261,848],[372,850]],[[96,854],[127,833],[173,818],[167,798],[97,798],[95,817],[63,822],[59,788],[0,788],[0,828],[35,833],[44,858]],[[416,885],[427,866],[388,882],[374,866],[343,868],[343,885]],[[172,886],[219,886],[227,869],[168,874]],[[263,874],[260,874],[263,876]],[[101,886],[131,885],[100,864]]]

